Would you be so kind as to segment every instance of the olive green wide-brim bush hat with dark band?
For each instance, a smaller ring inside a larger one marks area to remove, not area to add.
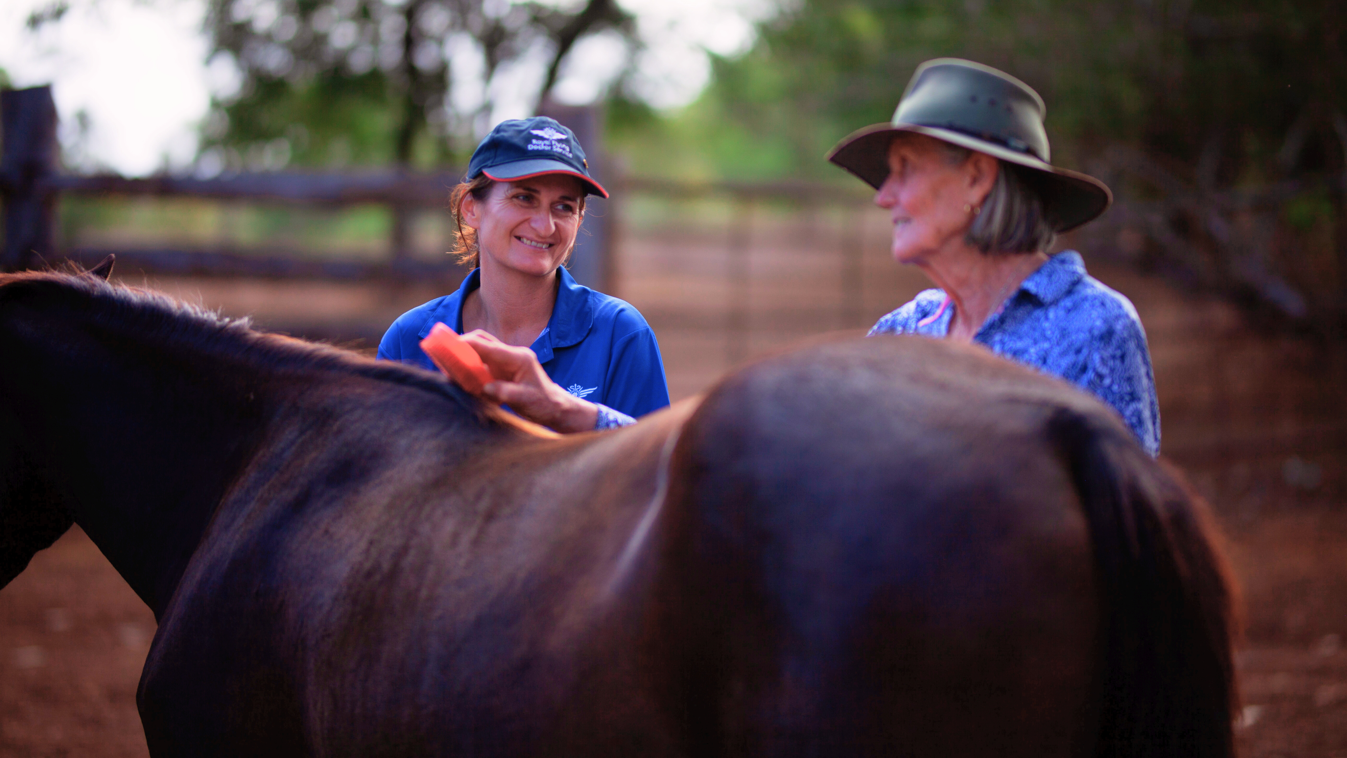
[[[1005,71],[936,58],[917,66],[890,123],[851,132],[828,152],[828,161],[880,189],[889,177],[894,134],[933,136],[1014,163],[1025,183],[1039,192],[1053,228],[1065,232],[1103,213],[1113,193],[1094,177],[1049,163],[1045,112],[1039,93]]]

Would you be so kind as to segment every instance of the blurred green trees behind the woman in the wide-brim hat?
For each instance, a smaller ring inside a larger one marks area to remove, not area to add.
[[[1138,263],[1347,328],[1340,0],[797,0],[758,31],[682,112],[612,111],[633,171],[849,182],[827,150],[968,58],[1044,96],[1055,163],[1158,201]],[[1280,210],[1238,200],[1259,187]]]

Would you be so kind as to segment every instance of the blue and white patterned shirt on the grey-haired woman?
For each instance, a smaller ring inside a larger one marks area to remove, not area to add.
[[[880,318],[870,334],[950,332],[954,301],[925,290]],[[1131,301],[1086,274],[1080,254],[1048,259],[974,337],[999,356],[1088,390],[1122,415],[1141,445],[1160,455],[1160,405],[1146,332]]]

